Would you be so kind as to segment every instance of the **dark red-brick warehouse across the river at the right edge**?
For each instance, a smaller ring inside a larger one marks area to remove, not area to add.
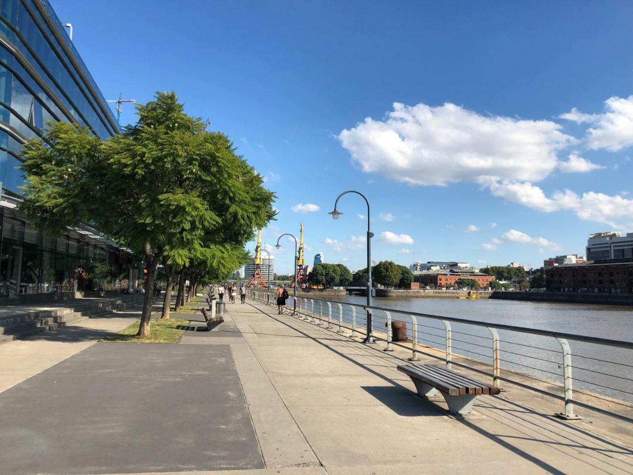
[[[633,294],[633,259],[596,260],[545,270],[552,292]]]

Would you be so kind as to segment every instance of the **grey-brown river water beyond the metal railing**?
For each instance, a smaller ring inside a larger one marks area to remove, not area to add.
[[[341,301],[358,305],[356,325],[364,327],[365,315],[361,305],[366,302],[365,297],[346,296]],[[410,336],[411,319],[406,315],[406,311],[633,342],[633,309],[627,307],[515,300],[399,297],[374,298],[373,305],[403,310],[403,314],[392,312],[392,319],[408,322]],[[319,312],[318,303],[315,307]],[[342,307],[344,321],[351,322],[351,307]],[[376,311],[374,315],[375,330],[384,332],[384,312]],[[332,308],[332,319],[338,319],[336,305]],[[452,323],[451,331],[454,355],[464,355],[486,363],[492,362],[491,333],[485,327]],[[562,386],[561,346],[555,338],[499,331],[499,339],[502,368],[537,376]],[[423,345],[444,350],[444,324],[439,320],[418,317],[418,341]],[[568,343],[572,352],[575,390],[586,390],[633,402],[633,350],[572,340]],[[460,360],[458,356],[454,356],[453,359],[467,364],[467,361]]]

